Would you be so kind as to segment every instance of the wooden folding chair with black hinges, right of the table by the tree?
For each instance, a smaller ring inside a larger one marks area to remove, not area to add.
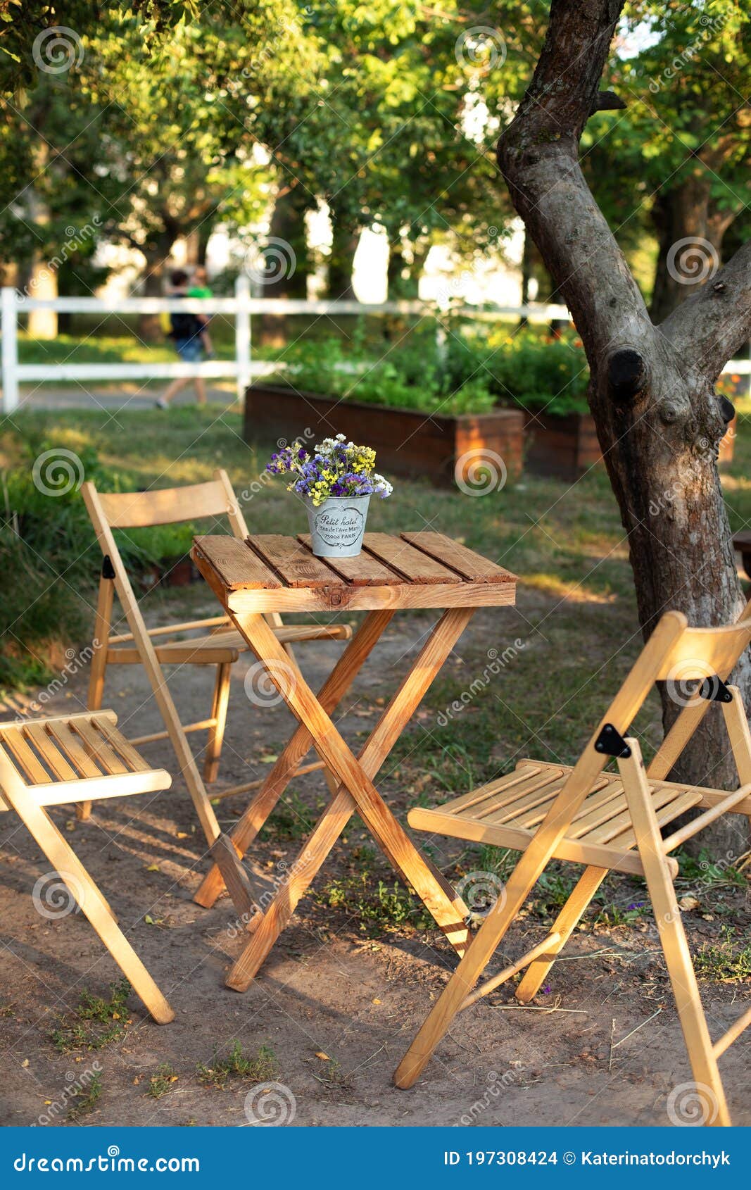
[[[632,872],[646,879],[678,1016],[706,1122],[727,1125],[730,1116],[718,1058],[751,1025],[751,1009],[714,1044],[705,1019],[688,950],[670,857],[681,844],[722,814],[751,815],[751,734],[737,687],[730,674],[751,640],[751,601],[737,624],[689,628],[684,615],[664,615],[611,703],[574,768],[521,760],[517,769],[437,809],[413,809],[409,825],[458,839],[524,852],[502,896],[483,921],[464,958],[436,1002],[395,1073],[398,1086],[412,1086],[456,1013],[487,996],[527,967],[517,998],[527,1003],[540,988],[556,956],[608,871]],[[696,681],[687,706],[645,770],[637,739],[628,727],[657,681]],[[713,702],[725,716],[730,749],[740,788],[728,794],[665,777]],[[603,772],[614,758],[618,775]],[[687,810],[703,813],[662,837]],[[636,851],[634,851],[636,848]],[[550,859],[584,864],[571,896],[551,932],[518,962],[472,990],[508,926]]]

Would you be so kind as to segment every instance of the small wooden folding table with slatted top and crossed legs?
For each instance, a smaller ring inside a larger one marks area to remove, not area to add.
[[[212,906],[225,884],[250,932],[227,985],[244,991],[286,927],[301,896],[353,813],[409,884],[461,956],[469,913],[449,882],[420,854],[374,785],[405,726],[478,607],[515,600],[515,577],[442,533],[367,533],[356,558],[317,558],[309,539],[279,534],[199,537],[193,558],[229,616],[265,669],[300,726],[230,837],[212,847],[217,860],[195,900]],[[419,656],[355,757],[331,720],[395,612],[437,608],[442,615]],[[273,612],[367,612],[333,670],[314,695],[267,619]],[[239,860],[312,749],[333,796],[265,912]]]

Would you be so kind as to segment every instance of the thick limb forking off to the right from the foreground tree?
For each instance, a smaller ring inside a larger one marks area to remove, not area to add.
[[[720,271],[674,309],[659,334],[714,383],[751,337],[751,240]]]

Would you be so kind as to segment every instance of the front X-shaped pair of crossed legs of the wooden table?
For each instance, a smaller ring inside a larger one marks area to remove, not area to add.
[[[255,935],[232,967],[227,979],[229,987],[240,991],[248,988],[355,810],[359,813],[392,865],[414,888],[455,950],[459,954],[464,953],[469,940],[465,923],[467,907],[448,882],[419,853],[373,785],[371,777],[377,774],[440,671],[451,649],[467,627],[472,610],[472,608],[456,608],[444,612],[409,674],[381,715],[358,760],[307,687],[302,684],[295,690],[284,691],[280,685],[280,693],[294,714],[309,725],[318,751],[340,777],[342,788],[319,819],[301,856],[293,865],[288,884],[277,892]],[[271,635],[269,640],[263,626],[251,622],[257,618],[245,616],[242,621],[238,620],[238,627],[244,635],[248,635],[258,656],[275,660],[274,652],[279,647],[275,638]],[[269,676],[274,678],[273,668],[269,670]]]

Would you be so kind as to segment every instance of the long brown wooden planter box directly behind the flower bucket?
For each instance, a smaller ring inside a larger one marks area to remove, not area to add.
[[[469,452],[499,456],[509,480],[521,474],[524,413],[494,409],[477,415],[444,416],[388,409],[359,401],[339,401],[282,386],[251,384],[245,392],[245,441],[262,438],[305,437],[313,445],[343,433],[373,446],[383,474],[425,477],[453,484],[453,466]],[[490,464],[493,459],[490,458]]]

